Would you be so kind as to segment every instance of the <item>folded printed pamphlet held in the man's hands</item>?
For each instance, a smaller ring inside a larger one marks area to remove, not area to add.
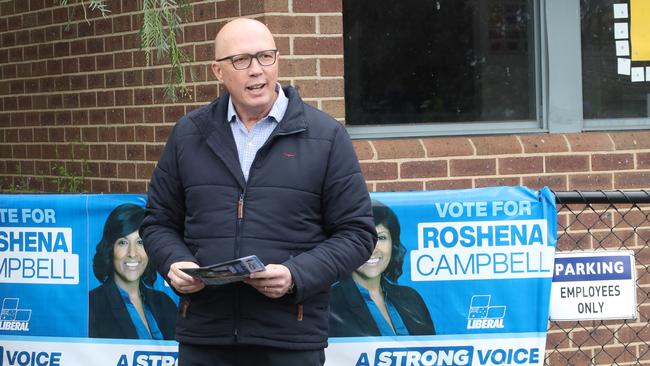
[[[264,263],[256,255],[249,255],[211,266],[181,268],[181,271],[192,277],[200,278],[206,285],[224,285],[243,281],[251,273],[265,269]]]

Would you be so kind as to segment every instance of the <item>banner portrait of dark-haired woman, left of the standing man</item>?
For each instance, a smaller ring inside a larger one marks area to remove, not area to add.
[[[102,284],[90,291],[91,338],[174,338],[176,304],[151,288],[156,272],[138,233],[144,214],[144,208],[127,203],[106,219],[93,258],[93,272]]]

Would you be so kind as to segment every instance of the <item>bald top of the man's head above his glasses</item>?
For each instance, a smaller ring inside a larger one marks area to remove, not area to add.
[[[253,42],[254,41],[254,42]],[[214,39],[214,56],[220,59],[240,53],[251,53],[251,47],[266,44],[265,49],[273,49],[275,40],[264,23],[255,19],[237,18],[221,28]]]

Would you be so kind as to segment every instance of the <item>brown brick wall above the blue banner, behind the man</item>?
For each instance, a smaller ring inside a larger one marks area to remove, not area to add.
[[[165,65],[145,65],[139,1],[113,0],[101,18],[54,0],[0,0],[0,184],[57,191],[56,177],[89,192],[144,192],[174,122],[219,94],[212,38],[237,16],[276,34],[283,84],[342,122],[341,1],[195,1],[183,49],[193,97],[163,98]],[[218,20],[215,20],[218,19]],[[68,22],[68,20],[70,20]],[[555,190],[650,188],[650,133],[613,132],[356,140],[373,191],[548,185]]]

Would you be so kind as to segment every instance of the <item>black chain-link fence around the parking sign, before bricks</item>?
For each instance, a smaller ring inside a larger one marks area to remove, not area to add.
[[[637,319],[551,321],[546,365],[650,365],[650,193],[555,192],[557,250],[632,250]]]

